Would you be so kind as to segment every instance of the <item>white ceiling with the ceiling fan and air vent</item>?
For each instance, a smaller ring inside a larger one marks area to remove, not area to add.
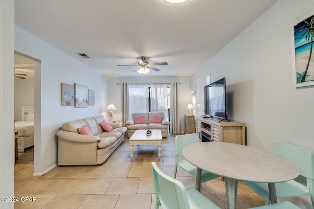
[[[108,77],[140,76],[117,67],[140,56],[168,62],[146,76],[190,76],[276,1],[15,0],[15,24]]]

